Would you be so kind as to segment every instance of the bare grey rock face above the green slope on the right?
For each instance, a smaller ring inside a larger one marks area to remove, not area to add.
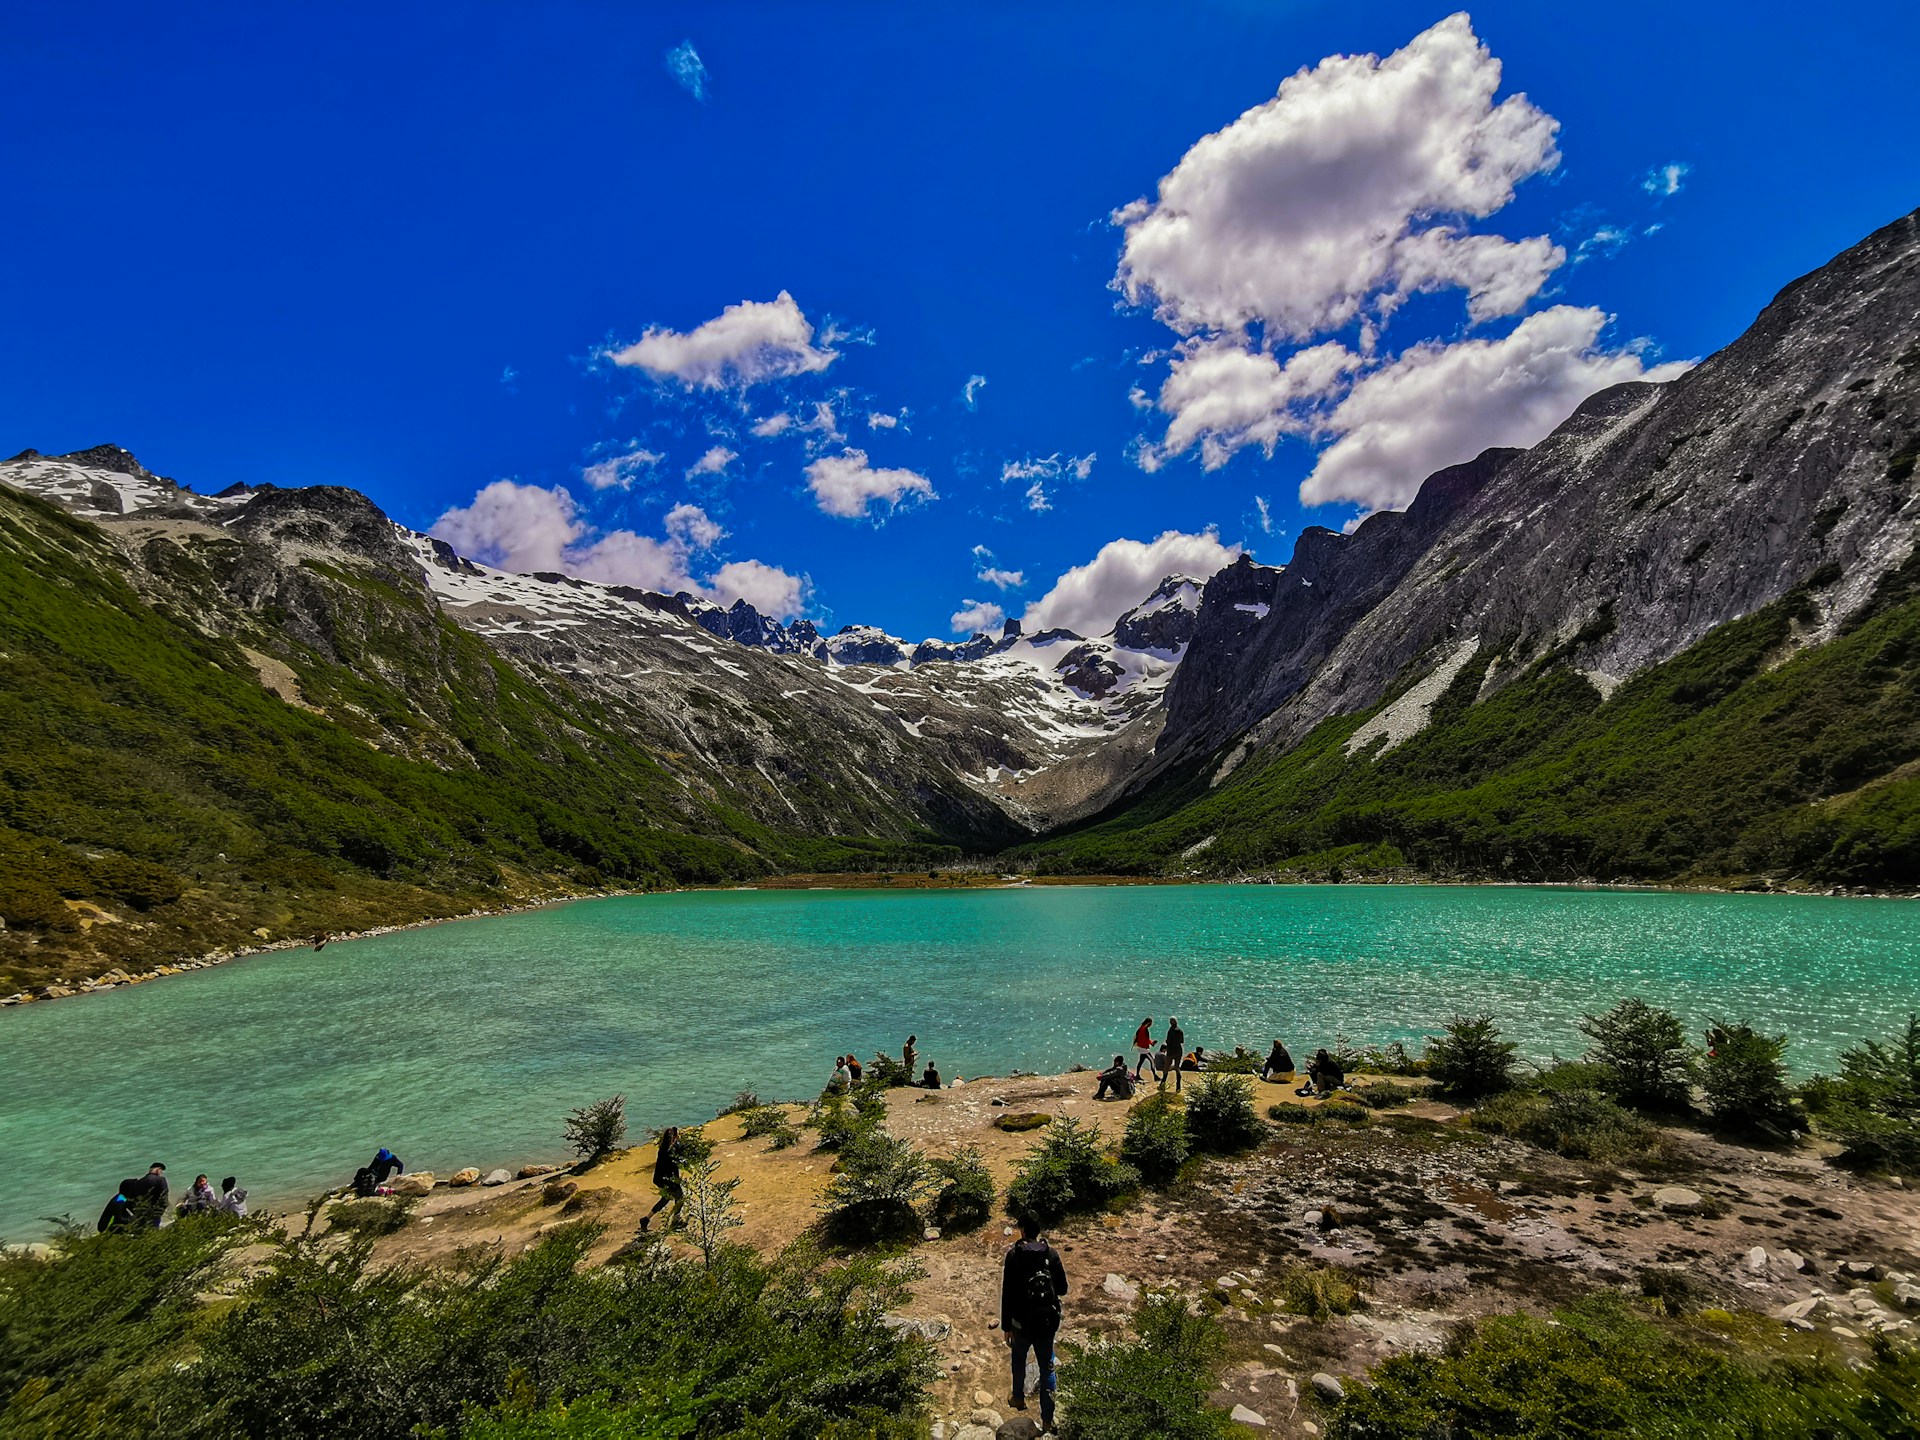
[[[1223,611],[1250,580],[1215,578],[1158,764],[1242,732],[1292,745],[1463,643],[1501,657],[1488,685],[1551,653],[1607,693],[1803,584],[1820,609],[1803,641],[1830,637],[1912,551],[1914,474],[1897,457],[1916,442],[1908,215],[1680,378],[1601,392],[1528,451],[1442,470],[1405,516],[1308,532],[1258,622]]]

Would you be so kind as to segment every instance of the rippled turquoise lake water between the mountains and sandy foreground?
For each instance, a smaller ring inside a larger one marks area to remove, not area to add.
[[[1438,887],[730,891],[588,900],[290,950],[0,1012],[0,1238],[92,1221],[163,1160],[175,1190],[255,1202],[411,1167],[559,1158],[572,1106],[626,1092],[636,1131],[735,1091],[814,1094],[833,1054],[954,1075],[1064,1069],[1146,1014],[1190,1043],[1296,1054],[1413,1041],[1492,1010],[1576,1054],[1624,995],[1793,1037],[1801,1071],[1920,1008],[1920,906]]]

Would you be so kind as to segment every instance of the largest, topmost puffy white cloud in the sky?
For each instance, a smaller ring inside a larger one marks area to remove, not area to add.
[[[1290,75],[1273,100],[1198,140],[1158,200],[1116,211],[1116,284],[1187,334],[1261,323],[1308,338],[1377,292],[1440,284],[1511,313],[1544,278],[1546,242],[1417,228],[1492,215],[1559,163],[1559,121],[1526,96],[1496,106],[1498,88],[1500,61],[1465,13],[1386,60],[1331,56]]]

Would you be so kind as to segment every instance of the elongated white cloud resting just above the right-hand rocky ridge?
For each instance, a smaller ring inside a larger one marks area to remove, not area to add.
[[[1532,445],[1596,390],[1668,380],[1686,363],[1647,369],[1597,346],[1605,311],[1555,305],[1501,340],[1415,346],[1354,384],[1325,420],[1338,436],[1300,486],[1308,505],[1369,511],[1413,499],[1434,470],[1488,445]]]

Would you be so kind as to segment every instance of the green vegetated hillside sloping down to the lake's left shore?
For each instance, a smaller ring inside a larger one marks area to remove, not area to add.
[[[324,584],[355,662],[288,647],[317,714],[265,689],[238,643],[138,595],[94,526],[0,490],[0,993],[261,927],[954,854],[931,835],[774,833],[424,595],[388,586],[357,607],[384,582]],[[378,749],[386,735],[409,755]]]

